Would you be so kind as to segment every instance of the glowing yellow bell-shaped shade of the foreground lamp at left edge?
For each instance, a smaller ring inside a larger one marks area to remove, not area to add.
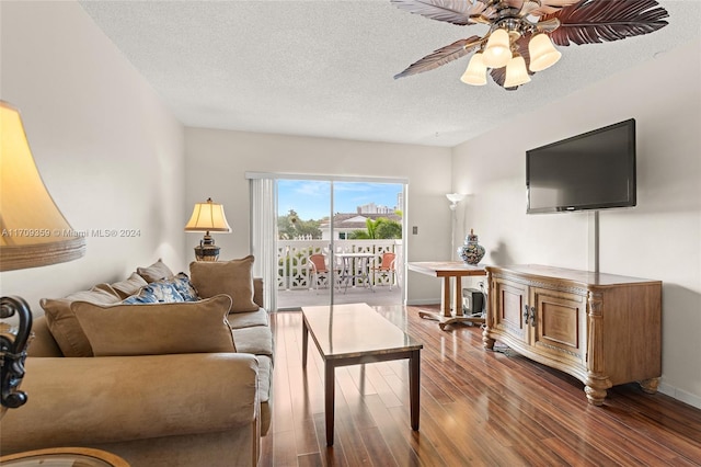
[[[39,175],[20,111],[0,101],[0,271],[45,266],[85,254]]]

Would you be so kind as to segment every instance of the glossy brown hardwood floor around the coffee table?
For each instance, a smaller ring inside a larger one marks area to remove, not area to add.
[[[423,342],[421,429],[409,413],[407,361],[336,369],[335,444],[324,435],[323,364],[301,312],[272,314],[273,423],[262,466],[701,466],[701,410],[636,385],[590,406],[583,385],[503,348],[481,329],[441,331],[427,307],[378,307]]]

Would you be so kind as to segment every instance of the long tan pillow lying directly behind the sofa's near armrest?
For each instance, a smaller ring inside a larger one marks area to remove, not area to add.
[[[95,356],[235,352],[227,314],[231,298],[145,305],[74,301]]]

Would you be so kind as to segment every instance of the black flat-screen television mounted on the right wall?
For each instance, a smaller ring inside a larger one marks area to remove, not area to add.
[[[635,119],[526,151],[528,214],[635,206]]]

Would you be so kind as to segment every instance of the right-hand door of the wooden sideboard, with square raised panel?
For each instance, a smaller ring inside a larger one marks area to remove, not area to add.
[[[586,299],[579,295],[532,288],[533,343],[558,360],[586,362]]]

